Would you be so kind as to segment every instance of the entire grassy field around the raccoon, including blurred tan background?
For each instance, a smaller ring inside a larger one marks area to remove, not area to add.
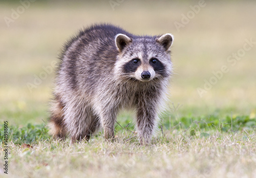
[[[123,1],[114,11],[109,1],[35,1],[8,28],[0,21],[0,141],[9,125],[8,175],[0,177],[254,177],[256,172],[255,46],[237,64],[227,62],[245,39],[256,40],[254,1],[205,1],[189,23],[175,28],[198,1]],[[120,1],[121,2],[121,1]],[[11,16],[19,2],[0,3],[0,17]],[[134,34],[172,33],[175,74],[167,112],[161,115],[151,145],[141,146],[133,115],[121,113],[116,141],[100,131],[92,140],[70,145],[48,135],[48,102],[54,72],[31,91],[57,60],[61,45],[77,29],[95,22],[118,24]],[[213,71],[229,69],[200,97]],[[32,147],[31,147],[32,146]],[[0,149],[4,150],[3,145]]]

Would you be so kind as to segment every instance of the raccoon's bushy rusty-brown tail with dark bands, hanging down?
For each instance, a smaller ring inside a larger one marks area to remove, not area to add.
[[[65,106],[60,100],[59,96],[55,96],[55,99],[52,103],[52,108],[51,108],[51,117],[50,117],[50,122],[49,122],[49,128],[50,131],[49,133],[54,137],[54,138],[60,138],[63,139],[66,136],[66,128],[65,128],[65,123],[63,120],[64,117],[64,112],[63,108]]]

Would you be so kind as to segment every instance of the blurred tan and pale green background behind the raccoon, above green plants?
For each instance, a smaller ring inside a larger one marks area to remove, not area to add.
[[[172,117],[255,117],[255,9],[255,1],[1,1],[0,121],[47,121],[62,44],[98,22],[138,35],[175,36]],[[234,54],[241,59],[229,57]],[[215,80],[212,72],[223,66],[228,72]],[[204,88],[205,81],[211,87]],[[207,91],[200,96],[198,88]]]

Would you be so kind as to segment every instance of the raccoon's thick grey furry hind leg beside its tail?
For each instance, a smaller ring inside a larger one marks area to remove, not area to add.
[[[73,103],[65,110],[65,124],[72,143],[83,139],[89,140],[99,128],[99,118],[92,112],[88,104],[82,101]]]

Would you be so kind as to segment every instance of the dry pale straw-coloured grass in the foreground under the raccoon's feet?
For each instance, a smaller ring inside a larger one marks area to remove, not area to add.
[[[41,126],[35,128],[30,125],[27,130],[40,130]],[[164,129],[164,136],[157,134],[148,146],[139,145],[133,134],[121,130],[114,142],[104,141],[101,133],[89,142],[74,145],[69,139],[37,137],[30,142],[33,148],[26,148],[11,141],[9,174],[4,177],[254,176],[255,128],[237,132],[206,130],[196,129],[191,134],[185,129]],[[40,135],[45,130],[41,131],[31,133]]]

